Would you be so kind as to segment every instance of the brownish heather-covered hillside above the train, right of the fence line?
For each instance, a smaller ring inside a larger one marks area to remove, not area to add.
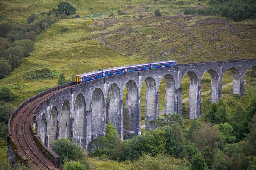
[[[255,58],[256,21],[183,14],[186,7],[205,5],[208,1],[144,1],[122,8],[127,15],[98,19],[92,37],[120,53],[154,60],[187,63]],[[157,8],[161,17],[154,16]]]

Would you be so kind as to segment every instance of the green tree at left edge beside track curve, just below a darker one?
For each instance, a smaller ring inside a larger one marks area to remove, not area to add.
[[[0,122],[5,122],[7,124],[9,114],[14,111],[14,107],[10,102],[4,102],[0,100]]]

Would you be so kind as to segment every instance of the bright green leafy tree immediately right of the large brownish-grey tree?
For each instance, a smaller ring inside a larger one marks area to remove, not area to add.
[[[215,127],[220,131],[220,135],[224,142],[232,143],[236,141],[236,137],[232,136],[233,128],[229,123],[217,124]]]

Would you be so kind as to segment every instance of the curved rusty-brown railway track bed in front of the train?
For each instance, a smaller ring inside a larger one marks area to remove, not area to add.
[[[70,88],[72,86],[66,87]],[[42,153],[39,147],[36,145],[33,136],[30,131],[30,118],[33,114],[33,110],[39,105],[42,101],[44,101],[47,97],[52,94],[64,90],[66,88],[62,88],[57,91],[53,91],[51,93],[46,94],[38,98],[37,100],[29,103],[24,106],[17,115],[13,118],[11,123],[11,134],[12,137],[17,144],[20,151],[27,155],[29,159],[29,164],[31,169],[50,169],[57,170],[54,164]]]

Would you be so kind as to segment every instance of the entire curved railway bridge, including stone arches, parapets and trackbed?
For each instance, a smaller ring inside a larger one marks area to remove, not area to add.
[[[233,74],[233,94],[243,95],[243,80],[249,68],[256,71],[256,59],[177,64],[117,74],[75,85],[70,82],[44,91],[24,101],[8,120],[8,160],[18,161],[34,169],[58,169],[60,157],[49,148],[58,137],[71,136],[85,150],[89,142],[106,134],[110,120],[123,139],[123,91],[127,88],[126,112],[131,130],[141,133],[141,86],[146,83],[146,129],[159,116],[159,85],[166,81],[165,112],[181,114],[181,81],[187,73],[189,86],[189,118],[201,115],[201,80],[205,72],[211,76],[211,102],[222,92],[226,70]],[[107,101],[107,95],[108,101]]]

